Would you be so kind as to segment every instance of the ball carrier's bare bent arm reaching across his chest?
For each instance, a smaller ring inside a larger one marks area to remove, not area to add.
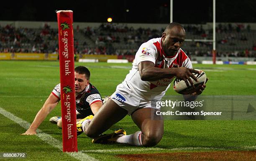
[[[197,81],[197,78],[192,73],[200,74],[199,71],[194,69],[189,69],[186,67],[165,68],[165,69],[156,68],[155,64],[152,61],[141,61],[138,64],[138,70],[141,75],[141,80],[143,81],[156,81],[159,79],[175,76],[179,79],[184,80],[187,85],[188,85],[187,80],[190,82],[190,84],[193,84],[192,80],[189,77],[192,77],[192,79]]]

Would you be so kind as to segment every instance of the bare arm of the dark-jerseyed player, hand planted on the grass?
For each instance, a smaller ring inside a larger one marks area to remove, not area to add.
[[[36,129],[38,126],[44,121],[46,116],[56,107],[59,103],[59,98],[54,96],[52,93],[47,98],[46,102],[44,103],[43,107],[37,112],[33,123],[30,125],[28,130],[23,133],[22,135],[34,135],[36,134]]]

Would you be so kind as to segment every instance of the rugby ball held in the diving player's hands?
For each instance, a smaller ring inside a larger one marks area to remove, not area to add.
[[[189,94],[192,94],[195,91],[197,91],[197,89],[200,86],[205,84],[206,79],[207,79],[205,72],[203,72],[200,69],[195,69],[195,70],[201,72],[201,74],[193,73],[195,75],[195,77],[197,77],[198,82],[196,82],[194,79],[192,79],[190,77],[195,86],[190,86],[191,84],[190,84],[190,82],[188,82],[190,87],[187,87],[184,80],[176,78],[173,82],[174,91],[176,91],[177,93],[182,94],[182,95],[189,95]]]

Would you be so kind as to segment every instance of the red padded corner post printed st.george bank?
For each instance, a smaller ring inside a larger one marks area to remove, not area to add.
[[[77,152],[76,100],[74,87],[73,11],[56,11],[59,28],[59,70],[63,152]]]

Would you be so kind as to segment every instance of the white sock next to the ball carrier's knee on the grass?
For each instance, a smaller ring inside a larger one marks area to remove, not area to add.
[[[117,143],[127,143],[133,146],[142,146],[141,131],[137,131],[131,135],[120,136],[116,140]]]

